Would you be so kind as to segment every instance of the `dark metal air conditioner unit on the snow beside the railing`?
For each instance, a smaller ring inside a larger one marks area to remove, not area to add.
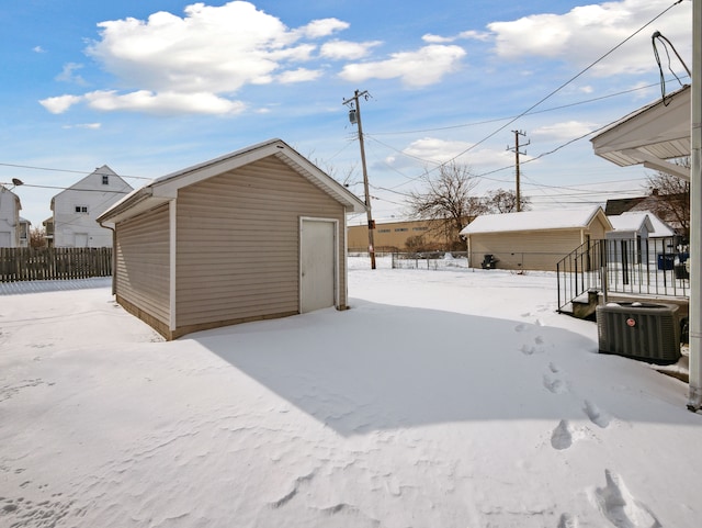
[[[680,359],[678,306],[608,303],[597,307],[599,351],[652,363]]]

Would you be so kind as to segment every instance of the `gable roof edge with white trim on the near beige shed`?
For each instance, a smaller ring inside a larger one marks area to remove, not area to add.
[[[343,204],[348,212],[365,212],[365,204],[341,183],[324,172],[282,139],[270,139],[157,178],[115,203],[98,217],[98,222],[114,223],[129,218],[176,199],[178,196],[178,190],[183,187],[192,186],[269,156],[274,156],[285,162],[314,186]]]

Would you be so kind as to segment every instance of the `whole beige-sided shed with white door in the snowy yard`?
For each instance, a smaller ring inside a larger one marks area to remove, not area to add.
[[[98,218],[117,302],[168,339],[347,307],[347,214],[365,204],[281,139],[165,176]]]

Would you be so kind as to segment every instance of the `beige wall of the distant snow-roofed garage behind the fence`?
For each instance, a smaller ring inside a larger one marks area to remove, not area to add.
[[[556,262],[580,244],[580,229],[475,234],[471,266],[479,268],[489,254],[499,259],[500,269],[555,271]]]

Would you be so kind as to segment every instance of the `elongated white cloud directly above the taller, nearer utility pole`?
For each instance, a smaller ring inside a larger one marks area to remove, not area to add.
[[[387,60],[347,65],[339,75],[354,82],[399,78],[408,87],[420,88],[434,85],[457,70],[464,55],[460,46],[432,44],[416,52],[392,54]]]

